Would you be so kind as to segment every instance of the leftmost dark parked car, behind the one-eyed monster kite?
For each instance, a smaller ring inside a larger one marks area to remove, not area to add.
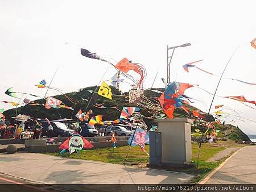
[[[49,132],[48,127],[49,124],[46,121],[40,121],[42,123],[42,136],[47,137],[69,137],[75,133],[74,130],[68,129],[68,127],[61,122],[51,122],[51,126],[53,127],[52,132]]]

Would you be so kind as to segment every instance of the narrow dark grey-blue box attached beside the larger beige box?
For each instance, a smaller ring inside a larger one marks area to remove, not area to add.
[[[162,133],[150,131],[150,165],[162,164]]]

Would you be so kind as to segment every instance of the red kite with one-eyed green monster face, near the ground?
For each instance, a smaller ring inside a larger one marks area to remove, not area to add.
[[[68,156],[70,156],[72,153],[77,153],[77,155],[79,155],[78,151],[92,147],[93,145],[88,140],[86,140],[84,137],[82,137],[81,135],[79,135],[79,133],[76,132],[67,140],[65,140],[63,144],[60,145],[59,149],[62,150],[60,151],[59,155],[65,152],[69,153]]]

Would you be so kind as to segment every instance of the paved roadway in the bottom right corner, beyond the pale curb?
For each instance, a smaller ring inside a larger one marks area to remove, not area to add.
[[[256,183],[256,146],[242,148],[206,184]]]

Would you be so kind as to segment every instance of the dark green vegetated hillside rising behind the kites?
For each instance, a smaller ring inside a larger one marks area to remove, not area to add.
[[[90,102],[90,105],[88,106],[87,110],[92,109],[93,115],[103,115],[103,120],[114,120],[114,119],[119,119],[119,116],[121,114],[121,110],[124,106],[136,106],[133,104],[129,103],[129,93],[124,93],[124,95],[121,95],[121,92],[115,87],[110,86],[112,88],[112,94],[115,94],[112,96],[112,100],[101,97],[98,94],[94,94],[92,98],[92,102]],[[69,107],[74,108],[74,110],[68,110],[67,108],[50,108],[47,109],[42,105],[39,106],[32,106],[32,105],[25,105],[22,107],[17,108],[17,114],[23,114],[23,115],[29,115],[32,116],[33,118],[48,118],[49,120],[55,120],[55,119],[61,119],[61,118],[69,118],[69,119],[76,119],[75,115],[77,111],[80,109],[82,111],[85,111],[86,106],[88,105],[88,101],[92,97],[92,93],[90,93],[88,90],[95,90],[96,86],[91,86],[91,87],[85,87],[84,89],[80,89],[77,92],[71,92],[67,93],[69,97],[71,97],[76,103],[70,102],[64,95],[55,95],[54,98],[60,99],[63,101],[63,103]],[[163,91],[163,88],[159,88],[156,90]],[[98,91],[98,90],[97,90]],[[117,96],[118,95],[118,96]],[[120,96],[121,95],[121,96]],[[159,97],[160,93],[155,93],[150,90],[145,90],[144,95],[146,97]],[[88,101],[82,100],[83,99],[88,99]],[[35,100],[35,103],[41,103],[44,104],[46,103],[46,99],[38,99]],[[116,107],[118,108],[97,108],[92,105],[95,105],[95,103],[102,104],[105,107],[106,106],[111,106],[111,107]],[[160,106],[160,103],[159,103]],[[120,111],[119,111],[120,110]],[[189,106],[189,111],[193,110],[198,110],[196,107]],[[11,117],[16,116],[16,109],[10,109],[3,114],[6,116],[6,119],[10,119]],[[144,111],[142,113],[144,116],[151,116],[152,114],[149,114],[148,112]],[[206,115],[206,114],[204,114]],[[174,112],[175,117],[188,117],[191,118],[192,116],[189,116],[186,112],[184,112],[183,109],[181,108],[176,108]],[[208,121],[213,122],[214,118],[212,115],[209,115],[207,117]],[[152,124],[156,124],[154,122],[154,119],[147,119],[143,118],[144,122],[150,127]],[[231,124],[226,124],[223,126],[222,124],[214,124],[216,129],[220,130],[218,132],[218,137],[225,138],[225,139],[233,139],[233,140],[246,140],[250,141],[249,137],[243,133],[240,128],[237,128],[235,126],[232,126]],[[195,130],[199,128],[200,130],[204,130],[203,127],[193,127],[192,129]],[[193,131],[192,130],[192,131]]]

